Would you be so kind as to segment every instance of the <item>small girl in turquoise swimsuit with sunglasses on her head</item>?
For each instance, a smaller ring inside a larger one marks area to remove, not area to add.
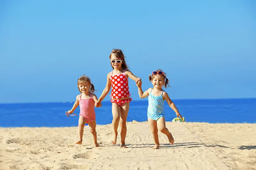
[[[175,104],[169,98],[168,94],[162,89],[163,85],[165,88],[169,86],[169,80],[166,78],[166,73],[163,70],[153,71],[149,75],[149,81],[152,82],[153,88],[149,88],[147,91],[143,92],[141,88],[141,82],[137,84],[139,89],[139,96],[141,99],[148,97],[148,123],[152,131],[153,139],[155,146],[153,149],[159,148],[158,140],[158,130],[164,133],[170,142],[173,144],[174,139],[169,130],[165,127],[165,118],[164,118],[164,100],[167,101],[168,105],[176,113],[177,117],[182,118]],[[169,86],[170,87],[170,86]],[[158,129],[157,129],[158,128]]]

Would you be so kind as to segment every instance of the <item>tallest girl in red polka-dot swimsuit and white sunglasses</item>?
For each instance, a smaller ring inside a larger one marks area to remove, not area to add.
[[[129,111],[131,94],[128,87],[128,78],[131,78],[137,83],[141,82],[141,79],[134,76],[129,70],[129,67],[125,63],[124,53],[120,49],[113,49],[109,55],[110,64],[113,71],[108,73],[107,85],[103,90],[99,100],[95,103],[95,107],[100,106],[100,102],[107,96],[111,88],[110,101],[112,103],[112,125],[114,136],[111,140],[112,144],[116,144],[118,122],[121,128],[121,148],[126,148],[126,119]]]

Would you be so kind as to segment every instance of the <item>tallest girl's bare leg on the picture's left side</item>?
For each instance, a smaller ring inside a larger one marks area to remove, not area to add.
[[[114,134],[111,140],[111,144],[116,144],[117,128],[118,128],[118,122],[120,120],[120,113],[121,113],[120,106],[116,103],[112,103],[112,115],[113,115],[112,125],[113,125]]]

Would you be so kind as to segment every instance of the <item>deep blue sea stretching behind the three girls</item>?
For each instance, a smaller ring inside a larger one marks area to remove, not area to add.
[[[256,99],[172,100],[186,122],[256,123]],[[79,116],[67,117],[74,102],[0,104],[0,127],[72,127]],[[127,121],[147,121],[148,100],[132,100]],[[95,108],[97,124],[112,122],[110,101]],[[166,121],[176,114],[165,102]],[[79,115],[79,107],[75,110]]]

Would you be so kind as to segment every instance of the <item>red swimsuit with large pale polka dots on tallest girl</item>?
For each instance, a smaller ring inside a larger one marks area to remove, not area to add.
[[[130,98],[131,94],[129,92],[128,78],[124,72],[122,74],[116,74],[116,75],[114,75],[113,72],[111,72],[111,76],[110,76],[110,81],[112,86],[110,100],[112,103],[116,103],[119,106],[122,106],[124,103],[132,101],[132,98]],[[129,99],[123,99],[127,97],[129,97]]]

